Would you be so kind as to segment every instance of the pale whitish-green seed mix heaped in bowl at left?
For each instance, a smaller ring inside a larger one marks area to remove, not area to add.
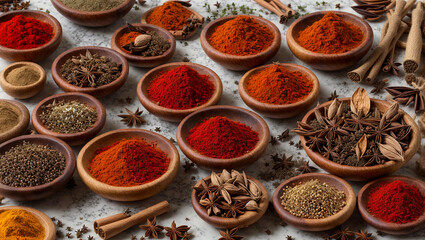
[[[92,128],[97,120],[96,110],[78,101],[53,101],[41,106],[40,120],[53,132],[78,133]]]

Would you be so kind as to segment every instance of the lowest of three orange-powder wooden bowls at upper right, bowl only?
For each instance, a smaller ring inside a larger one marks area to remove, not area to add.
[[[313,81],[313,90],[304,100],[291,104],[278,105],[260,102],[251,95],[249,95],[248,91],[246,90],[246,87],[247,82],[252,77],[252,75],[257,74],[258,72],[273,66],[273,64],[263,65],[245,73],[245,75],[243,75],[243,77],[239,81],[239,94],[241,95],[241,98],[245,102],[245,104],[248,105],[248,107],[252,108],[254,111],[260,113],[261,115],[270,118],[290,118],[305,111],[317,100],[317,97],[319,96],[320,92],[320,84],[316,75],[306,67],[291,63],[280,63],[279,65],[287,68],[290,71],[299,71],[303,75],[307,76],[307,78],[309,78],[311,81]]]

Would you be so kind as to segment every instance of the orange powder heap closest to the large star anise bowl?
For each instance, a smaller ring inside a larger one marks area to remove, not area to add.
[[[263,103],[290,104],[305,99],[313,90],[313,82],[299,71],[273,65],[249,78],[246,90]]]

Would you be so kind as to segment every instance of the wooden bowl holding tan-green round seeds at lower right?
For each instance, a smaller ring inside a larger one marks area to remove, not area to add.
[[[295,186],[300,182],[303,183],[313,179],[318,179],[321,182],[329,184],[329,186],[333,186],[338,190],[343,191],[346,196],[345,207],[338,213],[321,219],[296,217],[290,212],[286,211],[283,208],[280,200],[283,189],[286,186]],[[280,184],[279,187],[277,187],[277,189],[274,191],[272,201],[275,211],[283,221],[298,229],[316,232],[335,228],[347,221],[353,214],[356,207],[356,194],[354,193],[351,185],[339,177],[324,173],[308,173],[292,177]]]

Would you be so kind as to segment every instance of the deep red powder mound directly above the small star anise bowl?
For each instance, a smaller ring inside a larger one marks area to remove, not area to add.
[[[188,143],[200,154],[212,158],[236,158],[254,149],[258,133],[226,117],[206,118],[189,131]]]

